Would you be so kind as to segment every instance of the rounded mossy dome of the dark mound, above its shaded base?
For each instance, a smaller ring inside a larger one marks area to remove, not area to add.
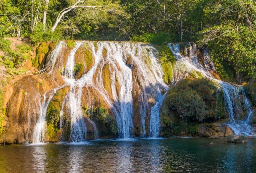
[[[222,94],[208,79],[184,79],[168,91],[163,110],[190,122],[222,119],[226,117]]]

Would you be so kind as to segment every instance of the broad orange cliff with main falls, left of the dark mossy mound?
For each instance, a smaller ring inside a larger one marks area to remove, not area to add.
[[[148,136],[151,107],[168,88],[159,58],[142,43],[41,44],[33,59],[40,71],[8,93],[1,142]]]

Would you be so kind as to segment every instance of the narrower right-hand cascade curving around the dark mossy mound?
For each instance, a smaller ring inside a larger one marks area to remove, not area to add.
[[[187,48],[187,46],[189,46],[189,49]],[[185,56],[183,57],[180,53],[179,44],[169,44],[170,50],[176,57],[176,64],[173,70],[172,85],[176,85],[181,79],[184,79],[190,73],[193,73],[197,77],[200,77],[200,75],[202,75],[205,78],[216,81],[218,84],[220,84],[221,89],[224,93],[224,101],[229,115],[229,122],[227,123],[227,125],[236,135],[253,135],[252,128],[249,125],[249,121],[252,115],[252,109],[245,95],[243,86],[235,86],[227,82],[215,79],[211,74],[211,70],[216,72],[216,69],[213,63],[210,61],[208,51],[204,50],[203,66],[198,62],[196,44],[191,45],[191,43],[189,43],[187,46]],[[198,72],[200,73],[200,75],[198,74]],[[240,95],[243,95],[242,99],[240,98]],[[243,102],[243,104],[245,105],[247,118],[244,121],[237,120],[238,112],[240,109],[242,109],[241,105],[239,105],[238,102]]]

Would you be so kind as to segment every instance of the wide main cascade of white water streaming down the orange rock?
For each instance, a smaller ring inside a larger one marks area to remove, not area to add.
[[[96,43],[96,44],[95,44]],[[96,132],[95,123],[89,117],[84,117],[82,100],[84,88],[91,93],[96,93],[98,99],[111,109],[116,117],[120,138],[129,138],[133,134],[134,104],[140,106],[141,136],[146,135],[146,117],[150,116],[150,136],[157,137],[160,129],[159,109],[163,103],[168,86],[162,79],[163,73],[157,60],[157,51],[150,45],[140,43],[118,43],[110,41],[76,41],[74,48],[63,56],[66,49],[64,41],[61,41],[47,57],[47,74],[58,77],[61,72],[60,85],[44,94],[44,100],[40,108],[40,116],[34,128],[33,142],[43,142],[47,124],[46,113],[49,102],[59,89],[66,86],[69,91],[65,94],[60,110],[60,128],[64,119],[70,119],[70,139],[74,142],[86,140],[87,125],[92,124]],[[88,62],[83,60],[84,72],[76,79],[76,53],[78,49],[87,49],[94,58],[89,68]],[[86,69],[88,68],[88,69]],[[109,76],[106,78],[106,71]],[[109,86],[106,86],[110,80]],[[55,83],[58,83],[55,81]],[[64,83],[64,84],[63,84]],[[138,90],[135,90],[136,87]],[[90,93],[89,92],[89,93]],[[138,100],[133,95],[138,95]],[[95,96],[94,95],[94,96]],[[93,95],[89,95],[88,98]],[[152,107],[152,105],[154,105]],[[93,107],[93,104],[91,105]],[[152,107],[152,109],[151,109]],[[92,108],[93,109],[93,108]],[[150,113],[151,112],[151,113]],[[64,117],[65,116],[65,117]],[[87,119],[87,120],[86,120]]]

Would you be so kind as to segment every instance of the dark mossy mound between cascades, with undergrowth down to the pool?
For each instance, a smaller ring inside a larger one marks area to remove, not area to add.
[[[183,79],[171,88],[162,108],[165,136],[186,132],[194,136],[198,124],[227,118],[223,92],[208,79]]]

